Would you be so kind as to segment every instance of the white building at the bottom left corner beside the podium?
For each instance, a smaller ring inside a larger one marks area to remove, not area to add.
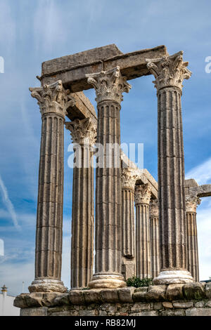
[[[15,297],[7,295],[6,286],[2,286],[0,293],[0,316],[19,316],[20,308],[13,306]]]

